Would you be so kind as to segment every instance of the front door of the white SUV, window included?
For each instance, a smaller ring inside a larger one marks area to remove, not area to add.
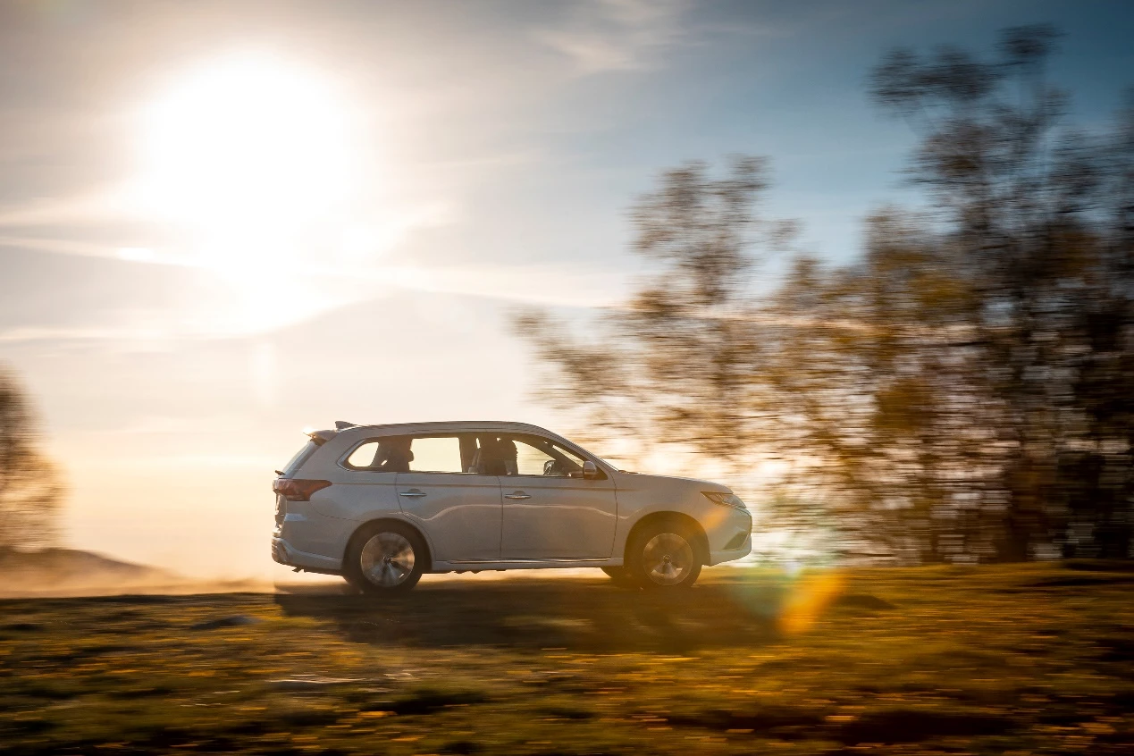
[[[507,440],[516,445],[516,464],[509,469],[516,474],[500,477],[501,558],[609,559],[618,515],[613,482],[603,473],[601,479],[584,479],[583,458],[548,439]]]

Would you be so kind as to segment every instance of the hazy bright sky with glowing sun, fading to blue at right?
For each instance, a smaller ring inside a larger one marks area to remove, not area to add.
[[[279,578],[270,484],[304,427],[578,430],[509,317],[632,290],[626,211],[662,170],[767,155],[767,212],[846,263],[919,202],[871,67],[1043,22],[1103,126],[1134,84],[1120,0],[0,0],[0,363],[66,543]]]

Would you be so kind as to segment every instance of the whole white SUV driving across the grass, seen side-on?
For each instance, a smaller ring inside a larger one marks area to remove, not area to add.
[[[626,473],[523,423],[313,431],[272,485],[272,559],[367,593],[424,572],[598,567],[683,588],[745,557],[752,517],[726,486]]]

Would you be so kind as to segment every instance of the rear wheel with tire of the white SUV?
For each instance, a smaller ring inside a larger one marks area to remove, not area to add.
[[[400,523],[364,526],[347,546],[342,577],[367,594],[411,591],[429,562],[425,542]]]

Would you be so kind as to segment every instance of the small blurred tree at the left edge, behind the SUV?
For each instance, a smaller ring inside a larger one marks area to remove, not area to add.
[[[0,368],[0,550],[54,542],[62,485],[36,449],[39,428],[15,377]]]

